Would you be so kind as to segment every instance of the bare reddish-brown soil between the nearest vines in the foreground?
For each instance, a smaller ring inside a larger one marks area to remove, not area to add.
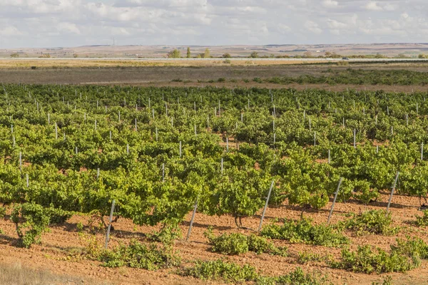
[[[368,209],[384,209],[387,204],[389,195],[384,193],[378,202],[365,206],[355,202],[348,202],[347,204],[339,203],[335,205],[335,212],[332,217],[332,223],[345,219],[344,214],[348,212],[362,212]],[[352,249],[357,249],[359,245],[371,244],[381,249],[389,251],[389,245],[395,244],[395,239],[405,239],[409,234],[413,237],[420,237],[428,242],[427,229],[415,227],[412,222],[415,220],[415,215],[422,215],[422,212],[417,211],[419,199],[407,196],[394,196],[392,201],[392,217],[394,226],[401,227],[399,234],[391,237],[384,237],[380,235],[363,235],[355,237],[352,232],[346,232],[350,237]],[[325,222],[327,220],[328,212],[331,207],[331,202],[326,207],[320,209],[319,212],[311,211],[305,213],[305,217],[311,217],[316,223]],[[187,220],[190,220],[190,213]],[[277,208],[268,208],[265,218],[265,224],[268,224],[274,218],[291,218],[299,219],[300,209],[287,206],[287,203]],[[75,216],[71,218],[66,224],[51,227],[51,232],[46,233],[42,237],[42,242],[39,245],[34,245],[31,249],[21,249],[15,247],[16,231],[12,222],[7,219],[0,219],[0,228],[4,230],[4,234],[0,237],[0,268],[4,264],[21,264],[22,267],[31,267],[32,269],[49,270],[50,275],[67,275],[73,276],[73,280],[83,280],[85,284],[206,284],[206,282],[193,279],[190,277],[181,277],[174,273],[171,269],[164,269],[160,271],[146,271],[143,269],[131,268],[118,268],[111,269],[101,266],[97,261],[90,261],[83,259],[80,253],[85,251],[88,245],[88,239],[93,237],[89,234],[88,224],[90,217]],[[81,222],[84,226],[83,232],[79,234],[77,224]],[[243,220],[243,225],[251,229],[257,229],[260,222],[260,215],[255,217],[246,218]],[[110,247],[114,247],[120,242],[128,242],[131,238],[140,239],[143,234],[151,233],[158,228],[154,227],[138,227],[126,219],[119,219],[114,223],[114,231],[112,232]],[[187,234],[188,222],[181,225],[183,236]],[[233,217],[209,217],[205,214],[196,214],[195,223],[193,224],[193,231],[189,242],[185,240],[178,240],[175,242],[174,249],[178,250],[180,257],[186,264],[188,260],[202,259],[213,260],[219,258],[228,258],[238,264],[251,264],[255,266],[260,272],[265,275],[280,275],[301,266],[306,271],[315,271],[320,274],[327,274],[333,284],[372,284],[372,281],[382,281],[385,276],[392,276],[392,284],[404,285],[414,284],[422,285],[427,284],[428,279],[428,263],[422,261],[422,266],[418,269],[408,271],[405,274],[356,274],[349,271],[331,269],[324,262],[312,262],[307,264],[297,264],[297,253],[309,251],[317,253],[322,256],[331,254],[336,259],[340,257],[340,249],[317,247],[305,244],[289,244],[288,242],[275,240],[276,245],[287,246],[288,257],[276,257],[268,254],[254,254],[248,252],[239,257],[225,257],[222,254],[210,252],[208,240],[203,236],[209,226],[213,227],[215,234],[243,232],[250,234],[250,230],[238,231],[233,222]],[[104,235],[101,232],[95,235],[98,244],[101,246],[104,243]],[[3,264],[3,265],[2,265]],[[92,281],[88,281],[92,279]],[[82,282],[83,283],[83,282]],[[68,283],[75,284],[75,283]],[[216,281],[209,281],[209,284],[221,284]]]

